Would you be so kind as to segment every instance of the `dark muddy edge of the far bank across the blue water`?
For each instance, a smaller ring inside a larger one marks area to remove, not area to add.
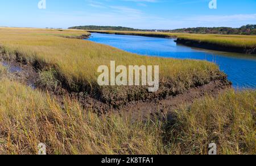
[[[177,35],[168,35],[163,33],[140,33],[140,32],[115,32],[115,31],[87,31],[90,33],[98,33],[98,34],[113,34],[113,35],[132,35],[132,36],[144,36],[151,38],[168,38],[168,39],[176,39],[175,42],[177,44],[183,44],[189,47],[203,48],[213,51],[224,51],[224,52],[233,52],[233,53],[245,53],[247,55],[255,55],[256,56],[256,46],[255,47],[236,47],[229,45],[221,45],[210,42],[202,42],[200,40],[192,40],[192,39],[183,39]]]

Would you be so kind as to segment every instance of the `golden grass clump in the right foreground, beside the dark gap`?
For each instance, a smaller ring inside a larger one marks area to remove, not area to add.
[[[207,154],[216,143],[218,154],[256,153],[256,91],[229,90],[183,106],[168,128],[171,153]]]

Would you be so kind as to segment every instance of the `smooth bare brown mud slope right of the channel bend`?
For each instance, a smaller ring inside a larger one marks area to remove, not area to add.
[[[205,95],[217,96],[225,89],[231,88],[230,85],[218,81],[212,81],[207,85],[192,88],[183,94],[168,97],[166,99],[151,102],[131,102],[127,106],[122,107],[122,114],[130,115],[134,120],[138,117],[148,118],[148,115],[155,117],[164,117],[171,120],[174,117],[175,110],[181,104],[192,105],[196,99],[201,99]]]

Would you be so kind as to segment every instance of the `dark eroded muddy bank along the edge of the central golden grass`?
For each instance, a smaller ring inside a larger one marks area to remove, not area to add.
[[[173,101],[172,97],[180,96],[191,89],[200,89],[200,87],[212,84],[211,82],[218,81],[221,82],[221,86],[216,90],[231,86],[225,73],[214,70],[208,72],[207,75],[209,77],[206,78],[199,78],[195,74],[189,82],[182,77],[178,77],[176,80],[174,78],[160,79],[159,90],[156,93],[149,93],[147,86],[119,86],[116,88],[92,85],[94,86],[93,91],[92,86],[87,88],[86,82],[78,81],[76,84],[69,84],[53,65],[38,60],[30,62],[24,59],[22,55],[19,55],[18,52],[7,56],[5,50],[0,49],[0,53],[2,55],[2,64],[10,68],[9,73],[12,79],[32,88],[37,88],[44,92],[47,91],[59,99],[60,102],[62,102],[63,97],[75,99],[81,103],[84,109],[93,110],[97,114],[129,110],[130,106],[136,110],[134,105],[137,105],[138,102],[147,103],[158,113],[159,111],[161,112],[156,107],[159,106],[159,101],[167,100],[171,102]],[[42,74],[43,72],[44,75]]]

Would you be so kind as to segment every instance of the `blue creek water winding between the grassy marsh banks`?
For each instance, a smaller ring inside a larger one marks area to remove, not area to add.
[[[256,55],[242,55],[207,51],[177,45],[174,39],[148,38],[143,36],[92,34],[90,41],[111,45],[141,55],[197,59],[214,62],[228,74],[236,88],[256,89]]]

